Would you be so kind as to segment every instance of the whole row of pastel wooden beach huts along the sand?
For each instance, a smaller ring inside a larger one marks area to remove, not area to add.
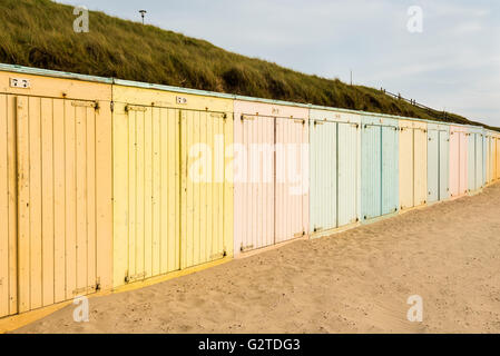
[[[500,178],[482,127],[9,65],[0,89],[0,318]]]

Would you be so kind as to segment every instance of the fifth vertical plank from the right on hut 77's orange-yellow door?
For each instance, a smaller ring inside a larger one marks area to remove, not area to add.
[[[43,306],[53,298],[53,116],[52,99],[41,99]]]

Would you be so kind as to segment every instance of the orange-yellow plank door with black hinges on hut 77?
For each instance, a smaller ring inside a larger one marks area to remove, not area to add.
[[[18,313],[88,295],[97,277],[97,105],[17,97]]]

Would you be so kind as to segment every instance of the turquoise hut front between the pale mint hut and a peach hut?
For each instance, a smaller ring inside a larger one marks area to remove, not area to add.
[[[399,209],[398,120],[362,118],[361,211],[363,220]]]

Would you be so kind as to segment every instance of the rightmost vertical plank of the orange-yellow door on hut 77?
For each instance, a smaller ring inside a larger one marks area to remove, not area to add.
[[[87,287],[97,284],[97,180],[96,180],[96,110],[87,108]],[[106,179],[102,179],[106,185]],[[109,236],[102,237],[109,239]],[[110,258],[110,255],[107,257]]]

